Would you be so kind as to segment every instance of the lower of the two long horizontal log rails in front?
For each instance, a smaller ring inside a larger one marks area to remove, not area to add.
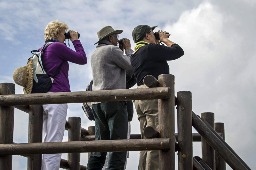
[[[0,144],[0,155],[170,150],[170,138]]]

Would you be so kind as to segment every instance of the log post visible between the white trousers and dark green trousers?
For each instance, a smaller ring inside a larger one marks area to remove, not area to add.
[[[81,139],[81,118],[68,118],[68,142],[80,141]],[[68,170],[80,170],[80,153],[68,153]]]

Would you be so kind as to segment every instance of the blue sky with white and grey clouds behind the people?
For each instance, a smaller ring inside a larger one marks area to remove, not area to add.
[[[251,169],[256,169],[255,9],[253,0],[0,0],[0,83],[14,83],[14,70],[26,65],[31,50],[43,46],[45,26],[52,20],[59,19],[70,30],[78,31],[87,55],[86,65],[69,63],[72,92],[85,91],[92,79],[90,57],[102,27],[122,29],[119,37],[132,40],[136,26],[158,25],[156,31],[169,32],[169,40],[185,52],[181,58],[168,61],[170,74],[175,76],[175,94],[192,92],[192,110],[197,115],[213,112],[215,122],[225,123],[226,142]],[[131,41],[131,45],[134,48],[135,43]],[[74,50],[71,41],[70,48]],[[16,85],[16,94],[22,93],[22,87]],[[68,104],[67,120],[81,117],[81,127],[87,129],[94,122],[85,116],[81,106]],[[177,132],[177,111],[175,118]],[[131,133],[138,134],[139,129],[135,112]],[[65,131],[63,141],[67,140]],[[13,141],[28,142],[28,114],[18,109]],[[200,142],[193,142],[193,156],[201,157]],[[62,158],[67,159],[67,154]],[[81,153],[81,165],[86,166],[87,161],[87,153]],[[139,152],[130,152],[126,169],[137,169],[138,162]],[[177,165],[176,155],[176,169]],[[27,158],[13,156],[12,168],[27,169]]]

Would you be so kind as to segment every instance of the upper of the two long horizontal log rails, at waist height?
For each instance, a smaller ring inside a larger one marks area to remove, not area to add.
[[[0,95],[0,106],[169,99],[170,87]]]

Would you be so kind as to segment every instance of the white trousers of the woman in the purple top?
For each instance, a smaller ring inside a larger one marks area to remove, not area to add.
[[[68,104],[43,105],[43,142],[62,142]],[[59,170],[61,154],[43,154],[43,170]]]

